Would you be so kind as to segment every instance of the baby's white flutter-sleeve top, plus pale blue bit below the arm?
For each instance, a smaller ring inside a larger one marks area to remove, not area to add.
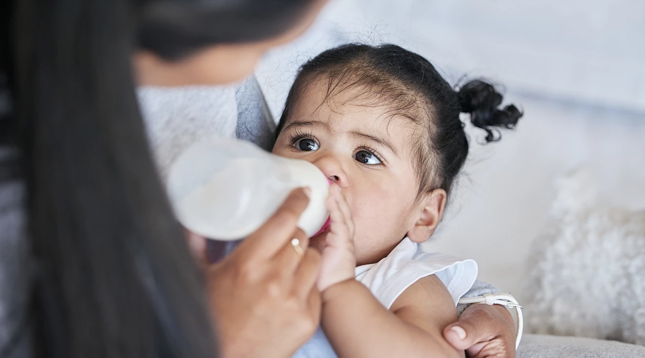
[[[390,309],[397,297],[419,279],[437,275],[446,285],[455,306],[475,283],[477,263],[423,252],[421,245],[405,238],[390,254],[377,263],[356,268],[356,279],[370,289],[381,304]],[[293,355],[294,358],[337,357],[321,328]]]

